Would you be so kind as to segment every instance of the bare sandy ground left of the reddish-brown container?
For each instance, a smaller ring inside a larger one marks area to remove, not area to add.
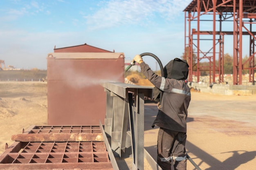
[[[47,125],[47,82],[0,82],[0,154],[31,125]]]

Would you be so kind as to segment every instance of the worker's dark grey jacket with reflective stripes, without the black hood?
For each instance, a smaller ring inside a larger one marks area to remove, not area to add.
[[[139,64],[141,71],[157,88],[162,90],[162,103],[152,127],[159,126],[178,132],[186,132],[187,109],[191,100],[190,88],[184,80],[156,75],[146,64]]]

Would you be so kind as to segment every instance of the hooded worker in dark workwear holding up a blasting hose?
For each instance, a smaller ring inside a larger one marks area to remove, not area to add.
[[[157,163],[163,170],[186,170],[186,117],[191,100],[185,80],[189,74],[186,60],[175,58],[164,67],[164,77],[156,75],[140,55],[133,58],[141,72],[163,92],[162,102],[152,127],[158,126]],[[155,92],[154,92],[155,93]]]

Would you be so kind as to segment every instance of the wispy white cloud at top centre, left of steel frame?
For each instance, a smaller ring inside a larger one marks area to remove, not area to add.
[[[101,8],[85,15],[90,29],[105,29],[128,24],[146,24],[156,18],[171,20],[180,15],[191,0],[110,0],[101,2]],[[81,13],[82,14],[82,13]]]

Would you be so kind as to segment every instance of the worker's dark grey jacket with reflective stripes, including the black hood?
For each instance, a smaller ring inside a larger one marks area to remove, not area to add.
[[[156,88],[163,91],[162,103],[152,127],[159,126],[178,132],[186,132],[187,109],[191,100],[190,88],[185,79],[189,65],[186,60],[175,58],[164,67],[164,77],[156,75],[146,64],[139,64],[141,71]]]

